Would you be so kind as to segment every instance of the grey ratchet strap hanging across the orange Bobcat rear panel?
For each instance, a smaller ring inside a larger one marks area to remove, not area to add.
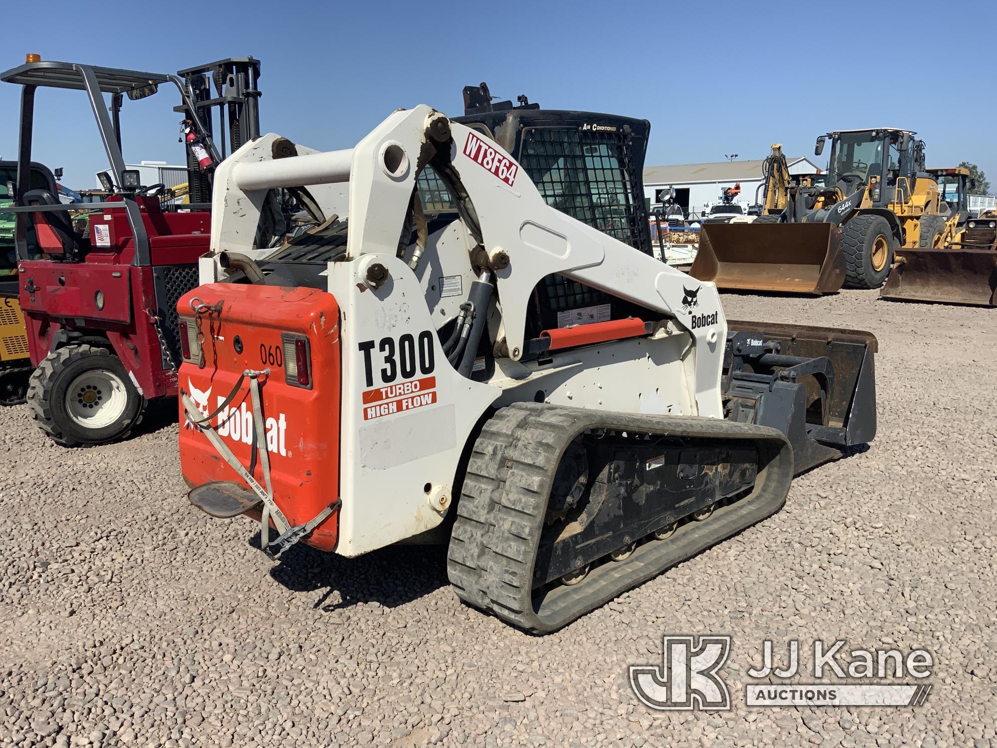
[[[211,443],[215,451],[228,463],[232,470],[238,473],[239,477],[249,485],[249,488],[252,489],[253,493],[263,503],[263,509],[260,513],[259,546],[268,557],[278,559],[287,549],[321,525],[329,515],[339,508],[342,501],[337,499],[304,525],[296,527],[291,526],[284,513],[280,510],[280,507],[273,501],[273,484],[270,481],[270,454],[266,449],[266,424],[263,419],[263,411],[260,407],[259,398],[259,377],[260,375],[269,375],[269,373],[269,369],[263,369],[263,371],[246,369],[243,371],[238,381],[235,382],[232,391],[228,393],[228,397],[207,416],[200,414],[200,411],[197,410],[189,395],[182,390],[180,390],[180,400],[183,403],[183,410],[187,420],[194,424],[207,437],[207,441]],[[242,382],[247,377],[249,378],[249,397],[252,403],[253,424],[256,427],[252,446],[255,453],[259,455],[259,465],[263,471],[263,483],[266,488],[259,485],[259,482],[252,477],[250,472],[246,470],[242,463],[239,462],[239,459],[228,448],[228,445],[218,436],[215,427],[210,424],[211,419],[221,413],[235,399],[235,396],[242,387]],[[273,542],[270,541],[271,518],[278,533],[277,539]]]

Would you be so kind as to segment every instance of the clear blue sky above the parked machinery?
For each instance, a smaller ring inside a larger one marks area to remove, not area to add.
[[[992,3],[61,6],[46,4],[44,23],[38,3],[5,9],[5,31],[20,31],[4,35],[0,68],[28,52],[164,73],[252,55],[264,132],[321,150],[352,147],[399,107],[463,114],[462,88],[487,81],[502,98],[650,120],[649,166],[760,159],[776,142],[813,160],[828,130],[886,126],[917,131],[929,167],[974,162],[997,188]],[[126,101],[127,160],[182,163],[176,98]],[[5,159],[18,108],[18,88],[0,84]],[[35,159],[94,187],[107,163],[84,95],[40,92],[36,119]]]

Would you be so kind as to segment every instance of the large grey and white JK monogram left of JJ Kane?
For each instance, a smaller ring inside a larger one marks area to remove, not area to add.
[[[630,665],[630,687],[652,709],[727,711],[731,693],[717,671],[731,653],[730,636],[662,637],[664,663]]]

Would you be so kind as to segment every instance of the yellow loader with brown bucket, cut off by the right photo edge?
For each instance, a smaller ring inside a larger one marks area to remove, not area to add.
[[[921,220],[916,248],[896,255],[879,295],[895,301],[997,306],[997,213],[973,218],[975,187],[961,167],[929,170],[943,197],[941,215]]]

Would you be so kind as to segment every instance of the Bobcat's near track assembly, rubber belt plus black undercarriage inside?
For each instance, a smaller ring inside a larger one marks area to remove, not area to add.
[[[595,454],[606,441],[615,458],[588,473],[587,499],[566,501],[562,463],[580,462],[573,445]],[[648,449],[661,457],[645,464]],[[669,477],[656,484],[653,469]],[[511,405],[474,447],[448,574],[465,601],[528,631],[552,631],[775,514],[793,474],[793,451],[776,429]]]

